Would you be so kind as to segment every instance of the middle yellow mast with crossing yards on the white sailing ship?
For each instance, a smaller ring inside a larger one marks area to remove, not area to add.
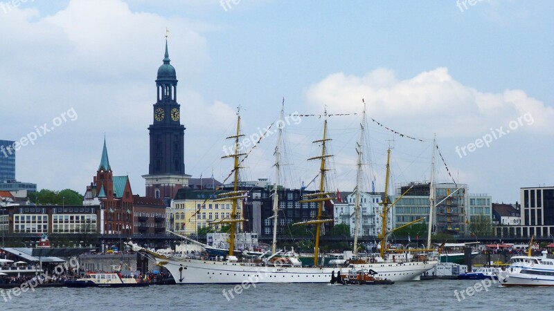
[[[307,160],[320,160],[321,164],[319,166],[319,192],[316,192],[315,194],[306,194],[304,196],[304,199],[299,201],[300,203],[308,203],[308,202],[318,202],[318,209],[317,209],[317,218],[316,220],[310,220],[310,221],[304,221],[301,223],[296,223],[295,225],[316,225],[316,235],[315,235],[315,249],[314,249],[314,265],[317,265],[317,259],[319,256],[319,235],[321,234],[321,225],[324,223],[331,223],[332,219],[322,219],[321,216],[323,216],[323,205],[328,200],[333,200],[334,198],[330,195],[332,193],[325,192],[325,172],[328,171],[328,169],[325,168],[325,159],[332,157],[332,155],[327,154],[327,148],[325,146],[326,142],[331,140],[330,138],[327,138],[327,111],[325,111],[325,122],[323,123],[323,139],[321,140],[314,140],[314,143],[321,142],[321,156],[309,158]]]

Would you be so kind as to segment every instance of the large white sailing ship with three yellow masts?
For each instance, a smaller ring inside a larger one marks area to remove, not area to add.
[[[283,118],[283,109],[281,110],[281,119]],[[365,110],[364,110],[365,115]],[[327,113],[325,112],[323,123],[323,139],[316,140],[314,143],[321,144],[321,155],[311,160],[319,160],[320,162],[320,185],[319,191],[314,194],[309,194],[303,198],[301,202],[316,202],[318,211],[316,219],[308,220],[298,225],[315,225],[316,234],[314,235],[314,261],[313,265],[303,266],[294,254],[283,254],[276,249],[276,235],[274,230],[274,239],[271,248],[270,256],[244,257],[235,255],[235,233],[237,232],[237,224],[244,221],[238,218],[237,205],[238,200],[242,200],[246,196],[246,191],[239,189],[239,170],[242,163],[241,158],[246,156],[246,153],[241,153],[239,148],[239,138],[243,135],[240,132],[240,113],[237,113],[237,127],[235,135],[229,137],[235,142],[235,151],[233,154],[226,156],[233,159],[233,190],[225,194],[218,195],[221,200],[233,200],[231,209],[231,218],[220,220],[218,223],[229,224],[229,254],[226,259],[215,258],[184,258],[179,256],[163,256],[148,249],[143,249],[134,243],[128,243],[136,252],[147,254],[157,265],[166,267],[177,284],[238,284],[243,282],[250,283],[328,283],[332,279],[332,274],[347,272],[352,268],[373,270],[374,276],[377,278],[388,279],[391,281],[417,281],[420,275],[431,270],[438,262],[427,260],[420,256],[407,256],[406,254],[387,254],[384,255],[384,247],[382,247],[382,256],[378,261],[375,258],[353,258],[350,262],[346,262],[341,267],[323,267],[318,265],[319,258],[319,236],[321,234],[321,225],[330,223],[331,219],[323,217],[323,205],[326,201],[332,200],[332,192],[325,191],[325,174],[328,171],[326,162],[330,155],[327,153],[327,144],[330,141],[328,138],[327,129]],[[362,124],[363,129],[364,124]],[[390,154],[390,150],[389,150]],[[276,168],[279,167],[279,150],[276,149]],[[387,164],[388,168],[388,164]],[[388,169],[387,169],[388,173]],[[388,180],[388,178],[387,178]],[[277,185],[276,185],[277,186]],[[277,187],[276,187],[277,188]],[[386,194],[387,195],[387,194]],[[386,197],[386,196],[385,196]],[[278,211],[278,196],[274,196],[274,218],[277,218]],[[386,207],[384,209],[386,211]],[[386,213],[384,213],[384,223],[386,223]],[[277,223],[275,219],[274,223]],[[386,228],[386,226],[384,226]],[[386,229],[385,229],[386,230]],[[382,232],[382,241],[386,241],[386,232]],[[384,243],[382,245],[385,245]],[[357,247],[355,247],[357,249]]]

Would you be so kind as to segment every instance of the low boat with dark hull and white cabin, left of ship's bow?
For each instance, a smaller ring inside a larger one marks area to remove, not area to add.
[[[68,288],[130,288],[148,286],[143,279],[125,278],[119,272],[87,273],[82,279],[67,280]]]

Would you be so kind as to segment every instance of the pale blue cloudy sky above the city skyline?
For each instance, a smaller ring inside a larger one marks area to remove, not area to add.
[[[231,170],[238,106],[249,138],[284,98],[283,184],[314,187],[323,117],[297,115],[327,111],[349,114],[328,117],[330,189],[352,191],[363,100],[362,189],[383,191],[388,147],[391,187],[429,180],[436,137],[437,182],[514,203],[553,185],[553,12],[547,0],[0,0],[0,139],[21,142],[17,180],[83,194],[105,137],[114,175],[144,194],[167,28],[193,177]],[[274,130],[244,180],[275,179]]]

